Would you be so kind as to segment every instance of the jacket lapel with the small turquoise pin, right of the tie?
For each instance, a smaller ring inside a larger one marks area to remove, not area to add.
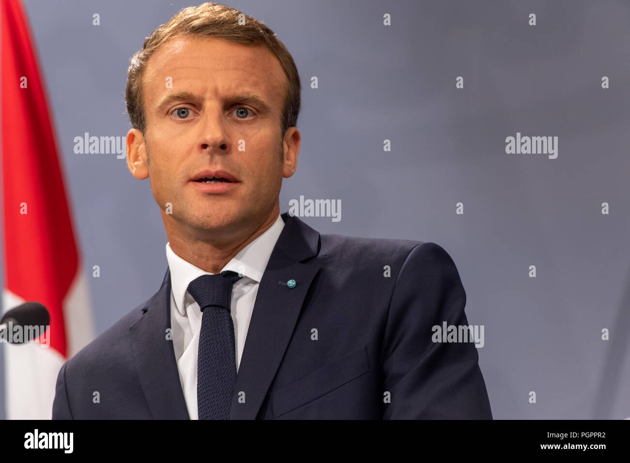
[[[282,219],[285,226],[258,286],[232,395],[231,420],[253,420],[258,415],[320,269],[304,262],[318,254],[319,232],[287,213]],[[289,280],[295,280],[295,287],[287,285]]]

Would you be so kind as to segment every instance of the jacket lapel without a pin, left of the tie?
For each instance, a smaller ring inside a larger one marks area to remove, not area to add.
[[[144,315],[129,328],[138,378],[154,420],[188,420],[181,390],[171,328],[171,273],[166,270],[162,286],[142,308]]]

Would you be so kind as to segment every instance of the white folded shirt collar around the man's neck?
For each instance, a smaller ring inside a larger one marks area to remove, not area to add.
[[[221,272],[232,270],[232,272],[240,273],[246,278],[251,278],[256,283],[260,283],[263,273],[272,255],[276,241],[284,228],[284,220],[280,214],[273,222],[273,225],[256,237],[254,241],[245,246],[222,268]],[[190,282],[202,275],[212,275],[192,263],[184,260],[171,249],[171,244],[166,243],[166,260],[171,272],[171,290],[175,299],[175,307],[180,314],[186,314],[185,297],[186,290]]]

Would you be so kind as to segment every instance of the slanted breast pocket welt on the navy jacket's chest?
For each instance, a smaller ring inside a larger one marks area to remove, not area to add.
[[[367,346],[348,352],[333,362],[272,391],[273,418],[318,399],[370,371]]]

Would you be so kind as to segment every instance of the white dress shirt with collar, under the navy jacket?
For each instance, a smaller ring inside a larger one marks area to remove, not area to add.
[[[231,314],[236,341],[236,371],[243,355],[249,320],[254,309],[258,285],[284,228],[284,220],[278,218],[254,241],[245,246],[229,261],[221,272],[232,270],[244,275],[232,289]],[[180,372],[181,389],[184,392],[188,415],[198,420],[197,413],[197,353],[201,331],[202,312],[199,304],[188,294],[188,285],[202,275],[212,275],[183,260],[166,243],[166,259],[171,271],[171,328],[177,368]]]

